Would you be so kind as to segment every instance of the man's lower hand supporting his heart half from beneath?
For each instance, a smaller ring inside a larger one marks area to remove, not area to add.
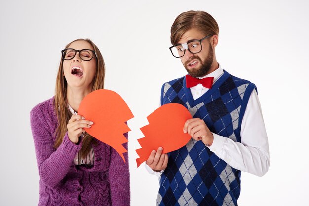
[[[163,148],[159,147],[157,151],[153,150],[149,158],[146,160],[146,164],[155,172],[164,170],[167,166],[168,155],[162,154]]]

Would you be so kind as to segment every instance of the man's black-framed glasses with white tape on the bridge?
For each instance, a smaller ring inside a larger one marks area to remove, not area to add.
[[[185,55],[186,50],[190,51],[192,54],[197,54],[202,51],[202,40],[210,37],[212,35],[208,35],[200,40],[191,40],[187,43],[183,44],[176,44],[174,46],[169,47],[169,50],[171,50],[172,55],[176,58],[182,57]]]

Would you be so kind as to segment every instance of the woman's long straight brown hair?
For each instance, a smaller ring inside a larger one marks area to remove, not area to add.
[[[104,88],[104,76],[105,76],[105,64],[102,57],[102,54],[98,47],[90,40],[90,39],[76,39],[66,45],[66,49],[69,48],[70,44],[75,41],[87,41],[93,48],[96,54],[96,75],[93,79],[93,87],[92,91],[97,89]],[[95,58],[95,57],[94,57]],[[57,79],[56,79],[56,88],[55,88],[55,112],[58,118],[58,127],[56,130],[56,142],[54,148],[58,148],[63,141],[63,137],[67,132],[67,124],[69,119],[72,116],[72,113],[68,107],[68,99],[67,99],[67,81],[64,77],[63,73],[63,60],[61,59]],[[91,142],[93,137],[88,133],[85,134],[84,138],[82,139],[82,148],[80,150],[81,156],[85,157],[85,155],[91,149]]]

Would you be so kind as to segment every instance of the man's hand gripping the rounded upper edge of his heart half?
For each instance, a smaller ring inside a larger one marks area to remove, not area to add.
[[[188,119],[184,126],[184,133],[188,133],[196,141],[202,140],[207,146],[211,146],[214,141],[213,134],[200,118]]]

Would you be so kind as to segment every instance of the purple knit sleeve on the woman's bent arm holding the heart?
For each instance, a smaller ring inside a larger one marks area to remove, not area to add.
[[[54,188],[65,177],[70,165],[81,144],[72,143],[68,133],[63,138],[62,144],[54,149],[53,131],[51,131],[52,117],[39,105],[30,112],[31,130],[35,143],[39,176],[48,187]]]

